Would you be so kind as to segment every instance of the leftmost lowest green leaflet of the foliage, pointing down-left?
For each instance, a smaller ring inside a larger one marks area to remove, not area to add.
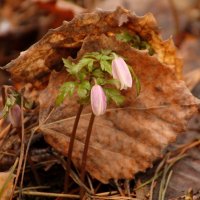
[[[63,103],[67,95],[72,96],[74,94],[75,87],[76,87],[75,82],[64,83],[59,89],[59,94],[56,98],[56,105],[59,106],[61,103]]]

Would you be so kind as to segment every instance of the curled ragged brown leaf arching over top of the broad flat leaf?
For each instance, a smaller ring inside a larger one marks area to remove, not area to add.
[[[156,21],[152,14],[137,17],[129,11],[118,8],[114,12],[93,12],[64,22],[55,30],[49,31],[28,51],[6,65],[15,83],[31,82],[36,87],[46,86],[52,69],[59,69],[61,58],[73,54],[72,49],[79,49],[88,35],[113,34],[129,31],[146,39],[156,51],[156,57],[174,68],[180,77],[182,64],[176,57],[176,49],[171,39],[162,41]]]

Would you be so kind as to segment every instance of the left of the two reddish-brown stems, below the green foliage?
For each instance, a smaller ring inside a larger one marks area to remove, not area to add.
[[[71,134],[71,138],[70,138],[70,142],[69,142],[67,169],[66,169],[65,181],[64,181],[64,193],[68,192],[72,152],[73,152],[74,141],[75,141],[75,137],[76,137],[76,130],[77,130],[77,127],[78,127],[78,122],[79,122],[82,110],[83,110],[83,105],[80,105],[80,107],[78,109],[78,113],[77,113],[75,121],[74,121],[74,126],[73,126],[73,130],[72,130],[72,134]]]

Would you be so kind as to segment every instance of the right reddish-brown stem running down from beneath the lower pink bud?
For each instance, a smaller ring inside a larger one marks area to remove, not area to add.
[[[81,163],[81,181],[82,181],[82,183],[85,182],[85,168],[86,168],[86,161],[87,161],[87,153],[88,153],[88,148],[89,148],[90,136],[92,133],[92,127],[94,124],[94,119],[95,119],[95,115],[92,113],[92,115],[90,117],[90,122],[89,122],[88,130],[87,130],[86,139],[85,139],[85,146],[83,149],[83,156],[82,156],[82,163]],[[84,193],[85,193],[84,187],[81,187],[80,199],[83,199]]]

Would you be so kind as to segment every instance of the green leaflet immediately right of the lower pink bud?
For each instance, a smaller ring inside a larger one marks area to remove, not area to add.
[[[106,97],[108,100],[112,100],[116,105],[120,106],[124,103],[124,96],[121,95],[120,91],[113,88],[104,88]]]

